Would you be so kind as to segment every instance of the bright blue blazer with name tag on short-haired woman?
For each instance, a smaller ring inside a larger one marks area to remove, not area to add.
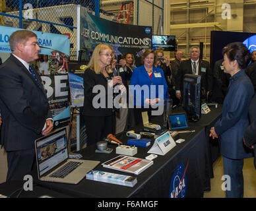
[[[139,85],[141,88],[136,87]],[[146,92],[143,89],[148,89],[149,92]],[[162,86],[161,86],[162,85]],[[155,87],[155,88],[154,88]],[[131,82],[129,86],[131,90],[131,94],[134,97],[134,105],[135,106],[144,106],[144,100],[146,98],[154,99],[160,98],[160,103],[164,102],[164,99],[168,99],[168,86],[166,84],[166,78],[164,77],[164,71],[162,69],[153,67],[152,79],[146,72],[144,65],[141,67],[137,67],[133,69],[133,75],[131,76]],[[150,91],[151,88],[151,91]],[[136,93],[141,92],[141,98],[137,99]]]

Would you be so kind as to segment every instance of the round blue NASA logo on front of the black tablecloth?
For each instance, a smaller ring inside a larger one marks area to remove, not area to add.
[[[188,163],[187,163],[188,164]],[[184,164],[178,164],[170,185],[169,198],[184,198],[187,190],[187,167]]]

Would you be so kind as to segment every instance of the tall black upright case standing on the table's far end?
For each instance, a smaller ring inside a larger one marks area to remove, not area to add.
[[[201,118],[201,76],[185,74],[183,78],[182,106],[189,121]]]

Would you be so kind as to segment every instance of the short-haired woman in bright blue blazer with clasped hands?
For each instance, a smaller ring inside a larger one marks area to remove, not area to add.
[[[162,115],[164,100],[168,99],[168,86],[162,69],[154,67],[154,50],[146,49],[142,57],[143,65],[133,69],[130,90],[134,98],[135,123],[142,122],[141,112],[148,111],[148,117]],[[152,111],[152,112],[149,112]]]

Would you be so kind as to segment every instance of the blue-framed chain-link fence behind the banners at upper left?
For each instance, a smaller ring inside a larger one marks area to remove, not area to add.
[[[101,18],[152,26],[153,34],[162,34],[164,0],[0,0],[0,24],[69,34],[71,59],[77,59],[77,5],[95,11]]]

